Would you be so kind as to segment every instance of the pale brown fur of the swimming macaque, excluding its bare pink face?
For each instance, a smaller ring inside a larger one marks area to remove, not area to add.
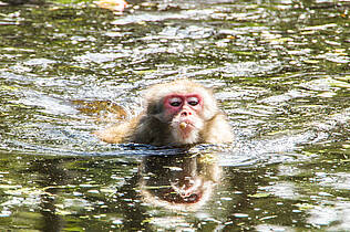
[[[95,135],[101,140],[113,144],[186,145],[177,143],[174,138],[174,128],[171,126],[174,118],[166,118],[163,98],[168,94],[188,93],[196,93],[203,97],[203,107],[196,118],[202,120],[204,126],[199,129],[199,136],[194,144],[231,141],[230,126],[226,116],[218,109],[212,89],[187,80],[151,86],[145,94],[145,112],[128,122],[96,131]]]

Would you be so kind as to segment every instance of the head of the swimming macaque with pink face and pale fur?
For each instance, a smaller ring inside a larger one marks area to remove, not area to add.
[[[174,144],[196,144],[218,112],[212,89],[189,81],[158,84],[145,95],[147,115],[167,124]]]

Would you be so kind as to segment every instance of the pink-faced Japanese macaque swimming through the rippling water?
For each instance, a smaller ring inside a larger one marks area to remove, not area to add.
[[[188,80],[151,86],[145,109],[135,118],[95,135],[106,143],[185,146],[233,140],[212,89]]]

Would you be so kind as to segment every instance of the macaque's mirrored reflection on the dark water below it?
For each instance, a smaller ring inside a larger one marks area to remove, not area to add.
[[[177,210],[195,210],[206,203],[220,176],[210,155],[145,157],[141,172],[144,200]]]

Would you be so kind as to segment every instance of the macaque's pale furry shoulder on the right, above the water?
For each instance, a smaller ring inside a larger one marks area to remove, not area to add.
[[[207,123],[203,133],[203,140],[208,144],[231,143],[234,140],[231,127],[224,113],[216,114]]]

